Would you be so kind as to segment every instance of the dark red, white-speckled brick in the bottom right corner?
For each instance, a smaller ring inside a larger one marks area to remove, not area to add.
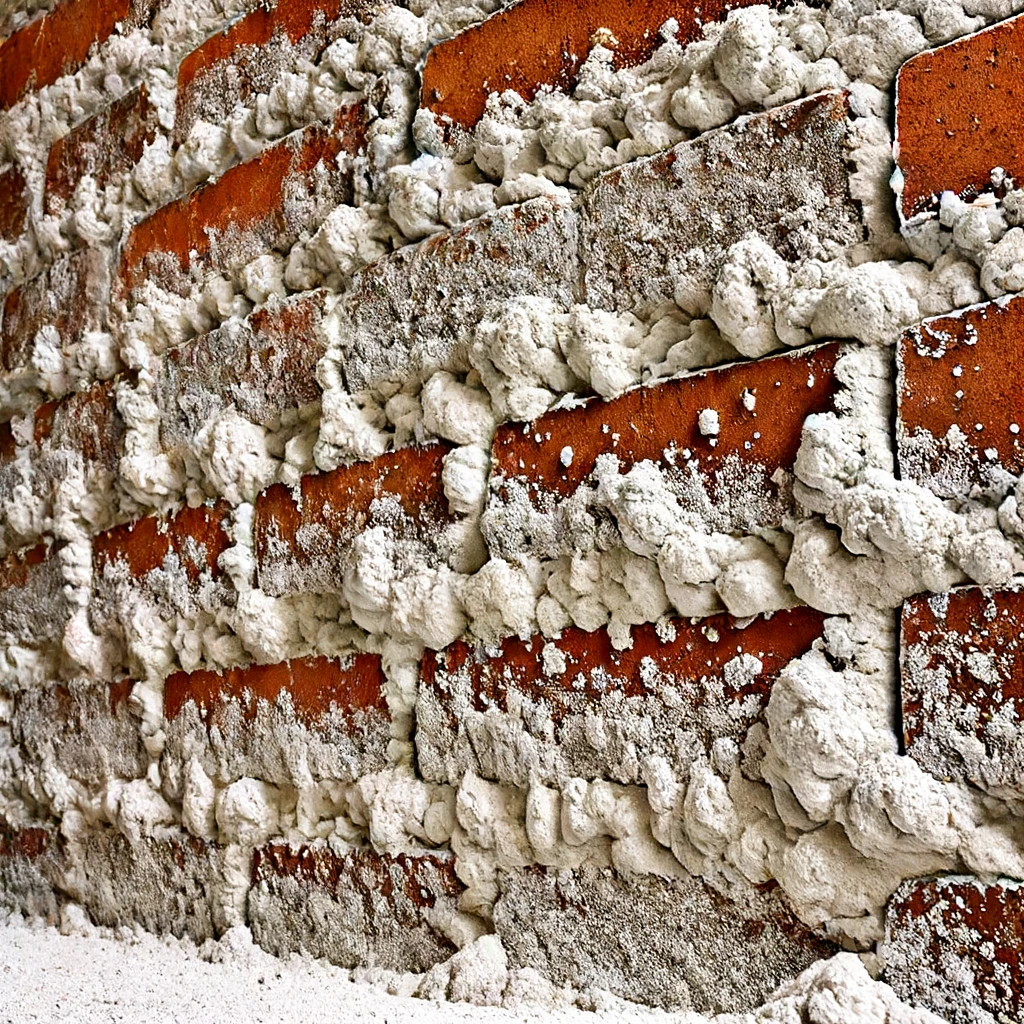
[[[949,1024],[1024,1014],[1024,888],[949,876],[905,883],[881,947],[885,980]]]

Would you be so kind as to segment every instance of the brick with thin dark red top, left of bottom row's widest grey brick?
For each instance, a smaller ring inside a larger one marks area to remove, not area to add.
[[[426,971],[456,951],[432,922],[455,912],[463,888],[449,852],[269,845],[253,857],[250,927],[279,956],[301,950],[343,967]]]

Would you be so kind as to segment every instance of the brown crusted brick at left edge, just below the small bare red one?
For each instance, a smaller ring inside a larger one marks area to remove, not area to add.
[[[51,327],[66,355],[87,331],[105,326],[110,300],[110,266],[94,249],[59,257],[38,276],[14,289],[4,300],[0,329],[0,364],[8,373],[27,371],[36,335]]]

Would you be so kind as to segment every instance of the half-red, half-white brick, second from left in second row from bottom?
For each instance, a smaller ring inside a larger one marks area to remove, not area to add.
[[[180,763],[200,756],[225,784],[243,776],[283,785],[354,780],[387,767],[384,682],[376,654],[175,673],[164,682],[165,750]]]

